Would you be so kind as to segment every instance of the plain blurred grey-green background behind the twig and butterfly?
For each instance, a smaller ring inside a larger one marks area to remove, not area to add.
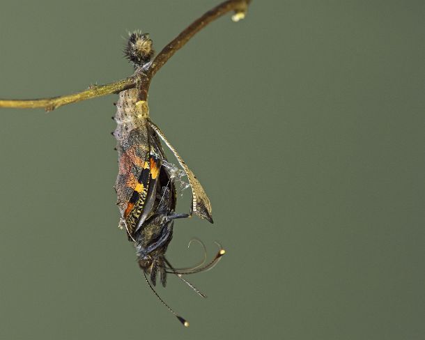
[[[0,98],[132,73],[218,1],[10,1]],[[150,114],[206,188],[215,224],[178,220],[149,291],[117,229],[112,102],[1,109],[0,339],[424,339],[424,1],[253,1],[155,77]],[[179,210],[187,211],[187,194]]]

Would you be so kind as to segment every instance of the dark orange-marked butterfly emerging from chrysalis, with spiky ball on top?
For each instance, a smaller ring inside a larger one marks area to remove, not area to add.
[[[125,56],[133,63],[136,72],[144,72],[150,65],[154,50],[147,34],[136,31],[130,35],[125,48]],[[193,213],[212,223],[211,204],[201,183],[157,125],[149,118],[148,103],[139,100],[139,90],[130,88],[119,93],[114,117],[117,127],[113,132],[117,140],[118,177],[115,190],[117,205],[121,212],[120,226],[127,231],[128,239],[134,242],[139,266],[146,281],[153,289],[157,274],[163,286],[167,283],[167,273],[173,273],[186,284],[205,297],[182,275],[202,272],[212,268],[224,254],[220,249],[215,258],[206,265],[196,268],[176,269],[165,257],[165,252],[173,235],[174,219],[190,217]],[[185,172],[192,188],[190,214],[178,213],[176,209],[176,176],[173,164],[161,145],[161,139],[172,151],[180,167]],[[150,282],[148,278],[150,278]],[[157,297],[186,327],[187,320],[178,316],[160,297]]]

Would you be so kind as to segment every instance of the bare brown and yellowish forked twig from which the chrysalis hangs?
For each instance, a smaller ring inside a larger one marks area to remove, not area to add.
[[[167,63],[167,61],[175,54],[178,49],[182,48],[187,41],[190,40],[197,32],[201,31],[207,24],[216,20],[218,17],[235,11],[232,19],[238,21],[245,17],[247,7],[251,0],[229,0],[224,1],[219,6],[208,10],[207,13],[199,17],[187,26],[187,28],[180,33],[174,40],[172,40],[162,51],[155,57],[149,68],[141,72],[137,70],[134,75],[126,79],[118,80],[105,85],[93,85],[87,90],[73,93],[71,95],[62,95],[53,98],[42,98],[33,100],[0,100],[0,107],[11,107],[17,109],[35,109],[44,108],[46,111],[52,111],[62,105],[67,105],[72,102],[79,102],[91,98],[97,98],[102,95],[109,95],[111,93],[118,93],[127,88],[139,87],[140,99],[147,100],[150,81],[156,72]]]

